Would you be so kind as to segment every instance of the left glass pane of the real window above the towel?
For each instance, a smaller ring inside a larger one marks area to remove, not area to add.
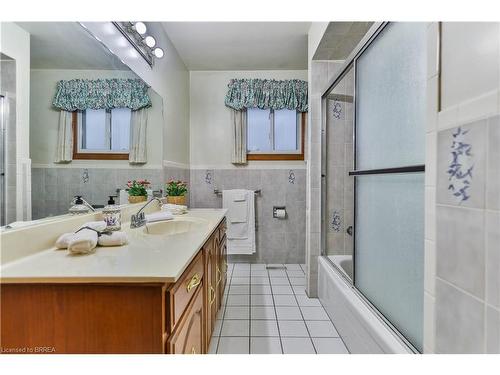
[[[272,151],[270,115],[269,109],[247,109],[248,151]]]

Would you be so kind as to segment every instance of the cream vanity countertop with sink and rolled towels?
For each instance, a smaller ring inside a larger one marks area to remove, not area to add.
[[[226,214],[225,209],[193,209],[175,220],[200,219],[206,226],[178,234],[146,234],[130,229],[129,244],[97,247],[89,255],[71,255],[55,247],[16,259],[0,268],[2,283],[172,283],[178,280]],[[32,240],[36,240],[33,238]]]

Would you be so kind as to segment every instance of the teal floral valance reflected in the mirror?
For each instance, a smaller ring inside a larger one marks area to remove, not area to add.
[[[72,79],[59,81],[53,104],[64,111],[151,107],[148,86],[140,79]]]

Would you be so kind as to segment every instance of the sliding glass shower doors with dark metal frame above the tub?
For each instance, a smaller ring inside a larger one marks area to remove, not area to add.
[[[386,23],[323,95],[322,253],[422,351],[426,28]]]

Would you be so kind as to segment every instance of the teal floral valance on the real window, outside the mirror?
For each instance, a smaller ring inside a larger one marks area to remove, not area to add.
[[[232,79],[225,103],[238,111],[257,107],[307,112],[307,82],[299,79]]]

